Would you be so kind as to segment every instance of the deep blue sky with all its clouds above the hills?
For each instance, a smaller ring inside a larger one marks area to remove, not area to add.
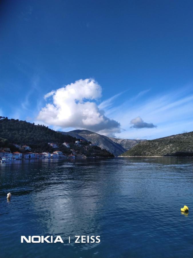
[[[118,138],[192,131],[192,11],[192,1],[1,1],[0,114]]]

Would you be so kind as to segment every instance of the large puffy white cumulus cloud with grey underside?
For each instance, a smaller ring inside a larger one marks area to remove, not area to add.
[[[51,100],[42,107],[37,119],[62,128],[82,128],[104,134],[120,132],[120,123],[105,116],[95,100],[102,96],[102,88],[94,79],[78,80],[44,98]]]

